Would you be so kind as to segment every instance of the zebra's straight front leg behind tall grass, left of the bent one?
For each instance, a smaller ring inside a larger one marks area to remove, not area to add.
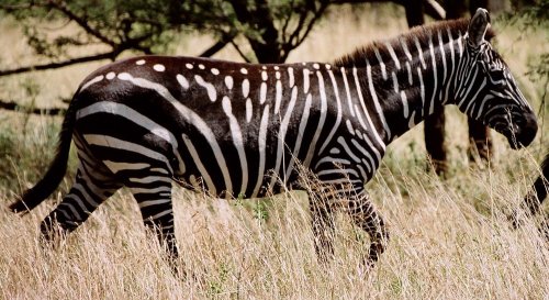
[[[309,192],[314,246],[318,260],[326,264],[334,257],[334,214],[328,199]]]

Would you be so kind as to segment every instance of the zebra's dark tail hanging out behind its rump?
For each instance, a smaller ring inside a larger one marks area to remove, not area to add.
[[[78,95],[78,92],[76,93]],[[70,104],[65,113],[59,141],[57,144],[57,153],[49,165],[46,175],[31,189],[26,190],[21,198],[10,204],[10,210],[25,214],[36,208],[59,186],[65,173],[67,171],[67,162],[70,151],[70,142],[72,140],[72,131],[75,127],[76,95],[70,101]]]

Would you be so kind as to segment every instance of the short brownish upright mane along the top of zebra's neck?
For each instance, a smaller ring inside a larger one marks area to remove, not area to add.
[[[391,53],[388,48],[388,45],[391,45],[396,54],[404,54],[401,41],[407,46],[410,53],[415,56],[414,54],[417,53],[417,48],[415,46],[414,36],[417,36],[422,49],[428,49],[429,40],[432,38],[435,46],[438,45],[437,35],[439,32],[441,33],[444,43],[447,43],[449,41],[448,31],[451,33],[452,38],[456,40],[459,35],[462,36],[467,33],[469,19],[459,19],[413,27],[411,31],[396,37],[374,41],[370,44],[367,44],[366,46],[357,48],[354,53],[336,59],[334,65],[337,67],[366,67],[367,59],[370,65],[378,65],[379,59],[376,56],[376,49],[378,49],[379,55],[381,56],[383,62],[389,62],[391,59]],[[489,26],[484,38],[486,41],[490,41],[494,36],[495,32],[491,26]]]

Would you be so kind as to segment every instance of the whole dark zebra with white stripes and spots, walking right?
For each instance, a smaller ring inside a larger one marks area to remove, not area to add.
[[[169,256],[179,256],[171,187],[217,198],[261,198],[309,189],[320,259],[334,255],[336,211],[370,236],[365,264],[389,232],[365,189],[386,146],[446,104],[505,135],[533,142],[537,121],[507,65],[490,44],[486,10],[470,21],[416,27],[334,63],[240,64],[143,56],[101,67],[75,93],[47,173],[19,201],[26,212],[63,179],[74,140],[76,180],[42,221],[46,241],[65,235],[122,187]]]

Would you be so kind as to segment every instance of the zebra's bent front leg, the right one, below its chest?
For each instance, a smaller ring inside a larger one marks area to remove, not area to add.
[[[385,251],[389,232],[381,215],[376,211],[368,193],[361,191],[348,197],[347,213],[352,222],[370,235],[370,249],[365,259],[366,266],[373,266]]]

